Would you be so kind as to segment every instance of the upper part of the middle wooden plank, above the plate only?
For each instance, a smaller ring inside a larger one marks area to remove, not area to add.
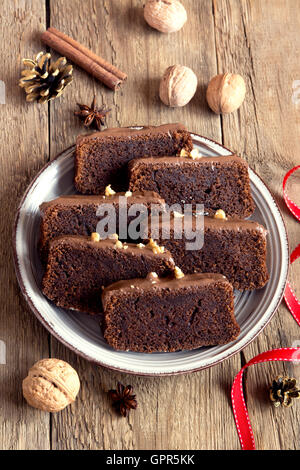
[[[52,26],[128,73],[127,83],[113,93],[74,67],[74,83],[60,100],[51,103],[51,127],[55,132],[52,157],[72,145],[78,133],[85,132],[73,111],[77,109],[76,102],[88,104],[94,94],[99,104],[104,102],[112,108],[107,119],[109,127],[181,121],[194,132],[220,140],[219,118],[208,111],[204,95],[205,85],[216,68],[211,3],[190,2],[186,6],[189,26],[175,35],[163,35],[145,23],[137,0],[89,0],[84,6],[85,23],[73,13],[80,11],[80,2],[51,2]],[[196,96],[181,109],[167,108],[158,97],[159,80],[164,70],[175,63],[191,67],[199,79]]]

